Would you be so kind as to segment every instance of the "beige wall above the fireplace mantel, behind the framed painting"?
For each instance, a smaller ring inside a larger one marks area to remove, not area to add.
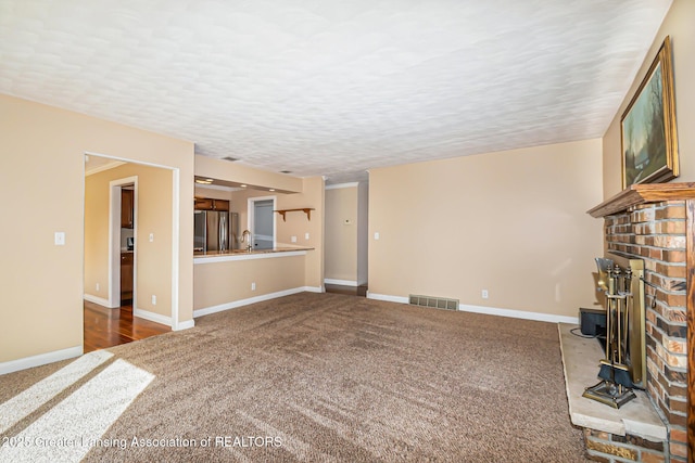
[[[695,2],[674,0],[659,29],[644,63],[606,131],[604,149],[604,198],[622,190],[622,157],[620,152],[620,119],[637,91],[666,36],[671,37],[673,80],[675,93],[675,125],[680,153],[680,177],[672,182],[695,181]]]

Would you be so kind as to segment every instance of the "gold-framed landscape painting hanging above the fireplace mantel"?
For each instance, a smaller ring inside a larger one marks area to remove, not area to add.
[[[667,36],[620,118],[622,188],[679,176],[671,39]]]

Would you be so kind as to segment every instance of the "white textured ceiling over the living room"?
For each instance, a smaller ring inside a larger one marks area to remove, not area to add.
[[[602,137],[671,0],[0,0],[0,92],[262,169]]]

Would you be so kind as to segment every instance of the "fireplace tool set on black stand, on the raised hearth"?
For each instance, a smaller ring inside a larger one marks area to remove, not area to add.
[[[624,272],[612,260],[596,258],[598,288],[606,293],[606,358],[599,362],[602,381],[584,389],[583,397],[619,409],[636,396],[627,364],[629,356],[629,322],[633,304],[632,270]]]

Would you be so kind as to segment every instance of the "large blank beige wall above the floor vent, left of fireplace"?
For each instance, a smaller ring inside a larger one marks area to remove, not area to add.
[[[369,293],[577,317],[596,299],[601,159],[587,140],[370,170]]]

